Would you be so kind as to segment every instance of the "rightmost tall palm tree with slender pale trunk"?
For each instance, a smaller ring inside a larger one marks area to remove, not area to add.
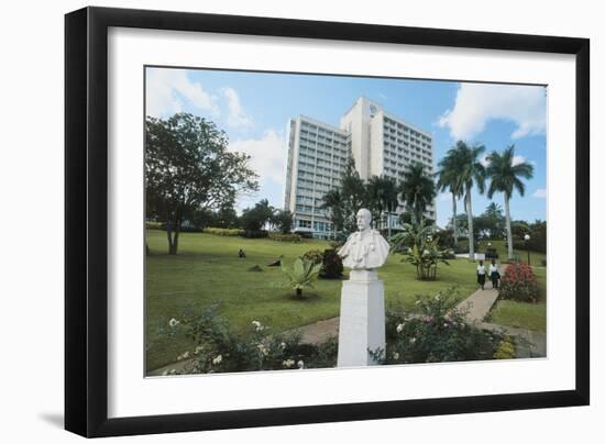
[[[504,193],[504,211],[506,217],[506,240],[508,243],[508,258],[513,258],[513,230],[510,229],[510,198],[516,189],[520,196],[525,195],[524,179],[534,177],[534,166],[526,162],[515,162],[515,145],[508,146],[502,154],[493,152],[487,156],[487,176],[492,180],[487,189],[487,197],[492,199],[496,191]]]

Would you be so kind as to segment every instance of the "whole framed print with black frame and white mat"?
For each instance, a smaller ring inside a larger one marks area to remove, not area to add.
[[[67,430],[588,403],[587,40],[65,31]]]

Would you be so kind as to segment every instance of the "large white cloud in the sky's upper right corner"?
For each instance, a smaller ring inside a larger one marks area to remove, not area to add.
[[[513,138],[542,134],[546,129],[544,89],[519,85],[462,84],[453,109],[446,111],[438,124],[449,127],[455,140],[470,140],[492,120],[514,122]]]

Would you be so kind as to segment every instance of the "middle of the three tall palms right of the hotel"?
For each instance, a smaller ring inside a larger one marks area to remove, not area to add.
[[[455,144],[458,152],[457,156],[460,156],[460,166],[458,175],[460,176],[460,182],[463,186],[464,192],[464,207],[466,209],[466,219],[469,220],[469,259],[475,260],[475,240],[473,231],[473,203],[471,192],[476,185],[480,193],[485,191],[485,167],[481,163],[481,154],[485,151],[485,146],[475,145],[469,146],[462,141],[458,141]]]

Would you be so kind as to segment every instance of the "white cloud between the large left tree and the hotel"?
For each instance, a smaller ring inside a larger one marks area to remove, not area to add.
[[[258,175],[284,184],[284,164],[286,162],[285,141],[275,130],[267,130],[260,140],[234,141],[229,144],[232,152],[250,155],[250,166]]]

